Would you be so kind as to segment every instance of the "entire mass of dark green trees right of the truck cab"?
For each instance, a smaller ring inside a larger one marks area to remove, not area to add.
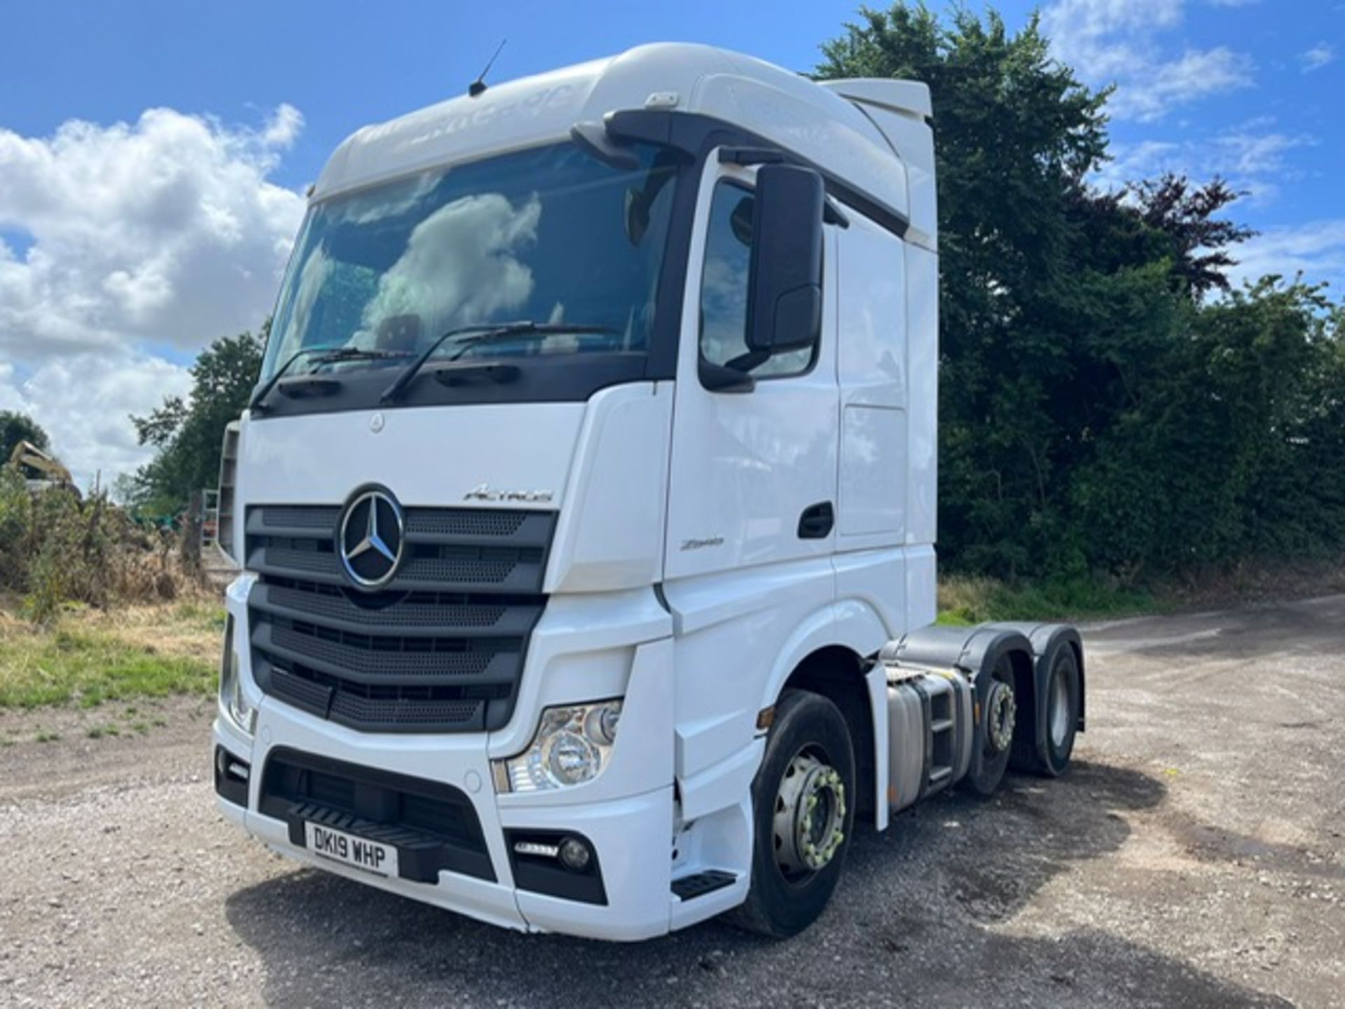
[[[1301,283],[1228,292],[1237,194],[1093,188],[1108,93],[1036,19],[898,3],[823,55],[819,77],[932,93],[951,566],[1132,584],[1345,549],[1345,316]]]

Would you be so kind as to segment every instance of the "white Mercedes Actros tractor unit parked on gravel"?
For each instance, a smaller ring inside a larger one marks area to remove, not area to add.
[[[226,452],[218,806],[500,926],[792,935],[855,821],[1084,721],[932,627],[928,90],[633,48],[367,126]]]

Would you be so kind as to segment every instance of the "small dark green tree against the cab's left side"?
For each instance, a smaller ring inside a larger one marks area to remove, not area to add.
[[[130,418],[140,444],[157,449],[136,472],[133,487],[118,487],[141,513],[175,514],[192,491],[215,486],[225,428],[247,404],[269,330],[268,322],[257,335],[215,340],[191,369],[188,400],[169,396],[148,416]]]

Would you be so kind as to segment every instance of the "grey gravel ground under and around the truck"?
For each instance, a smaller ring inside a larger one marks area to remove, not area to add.
[[[1345,1005],[1345,596],[1085,639],[1071,774],[861,831],[785,943],[522,935],[296,869],[215,814],[199,702],[0,748],[0,1005]]]

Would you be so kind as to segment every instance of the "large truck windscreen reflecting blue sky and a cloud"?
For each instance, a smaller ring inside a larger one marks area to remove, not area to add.
[[[285,278],[262,381],[297,351],[382,358],[313,367],[397,367],[451,330],[547,323],[456,347],[453,357],[643,351],[654,323],[675,165],[635,147],[613,168],[572,143],[426,171],[312,207]],[[565,332],[560,324],[582,327]]]

